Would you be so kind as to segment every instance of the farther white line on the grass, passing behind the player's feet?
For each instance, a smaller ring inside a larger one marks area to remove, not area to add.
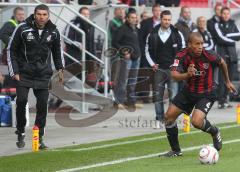
[[[240,125],[234,124],[234,125],[228,125],[224,127],[220,127],[220,129],[228,129],[228,128],[234,128],[234,127],[240,127]],[[202,132],[201,130],[197,131],[191,131],[189,133],[180,133],[179,136],[182,135],[188,135],[188,134],[196,134]],[[125,141],[125,142],[119,142],[119,143],[112,143],[112,144],[105,144],[105,145],[99,145],[99,146],[92,146],[92,147],[86,147],[86,148],[79,148],[79,149],[52,149],[52,151],[87,151],[87,150],[95,150],[95,149],[102,149],[102,148],[109,148],[114,146],[121,146],[126,144],[133,144],[133,143],[139,143],[139,142],[146,142],[146,141],[153,141],[158,139],[165,139],[166,136],[157,136],[157,137],[151,137],[151,138],[144,138],[144,139],[138,139],[138,140],[131,140],[131,141]]]

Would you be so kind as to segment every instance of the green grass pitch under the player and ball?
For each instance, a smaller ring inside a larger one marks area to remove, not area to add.
[[[234,125],[221,124],[220,127]],[[179,130],[181,133],[181,130]],[[191,148],[212,143],[210,135],[196,132],[179,136],[181,147]],[[240,139],[240,125],[221,129],[223,141]],[[131,160],[127,158],[154,155],[169,150],[165,132],[137,137],[82,144],[59,149],[25,153],[15,156],[0,157],[0,172],[48,172],[48,171],[80,171],[91,172],[237,172],[240,169],[240,140],[223,145],[220,158],[215,165],[201,165],[198,161],[200,148],[183,151],[182,157],[159,158],[150,156]],[[137,140],[137,141],[136,141]],[[123,144],[122,144],[123,143]],[[13,143],[15,144],[15,143]],[[87,149],[86,149],[87,148]],[[111,161],[124,162],[108,164]],[[102,163],[102,164],[101,164]],[[105,163],[105,165],[104,165]],[[98,167],[95,167],[98,164]],[[93,165],[93,166],[90,166]],[[72,170],[71,170],[72,169]]]

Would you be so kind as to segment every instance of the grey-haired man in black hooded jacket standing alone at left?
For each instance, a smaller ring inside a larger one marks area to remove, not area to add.
[[[42,142],[42,136],[46,124],[49,81],[53,74],[51,53],[60,82],[63,81],[64,68],[60,34],[49,20],[49,8],[46,5],[38,5],[34,14],[15,29],[7,51],[9,73],[17,81],[17,146],[22,148],[25,145],[25,107],[29,88],[32,88],[37,98],[35,125],[39,127],[39,148],[45,149],[47,147]]]

